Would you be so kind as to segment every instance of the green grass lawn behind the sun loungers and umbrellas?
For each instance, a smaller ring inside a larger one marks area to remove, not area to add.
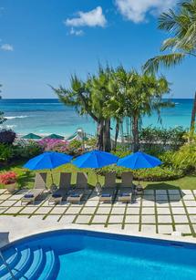
[[[34,183],[34,176],[35,172],[34,171],[27,171],[23,168],[24,162],[17,162],[11,166],[7,166],[4,168],[1,168],[0,171],[15,171],[19,175],[19,180],[18,180],[18,185],[20,188],[28,187],[31,188]],[[77,171],[85,171],[85,170],[79,170],[77,169],[74,165],[72,164],[67,164],[63,165],[53,171],[54,174],[54,181],[56,184],[58,184],[59,180],[59,172],[60,171],[71,171],[73,173],[72,176],[72,183],[76,182],[76,173]],[[97,178],[95,176],[95,173],[91,170],[86,170],[88,171],[88,182],[92,186],[95,185]],[[48,172],[49,173],[49,172]],[[98,176],[99,181],[103,183],[104,178],[103,176]],[[49,186],[51,184],[51,176],[47,176],[47,185]],[[181,188],[181,189],[196,189],[196,173],[191,174],[189,176],[186,176],[184,178],[181,178],[179,180],[175,181],[162,181],[162,182],[151,182],[151,181],[141,181],[141,184],[144,187],[147,188],[155,188],[155,189],[175,189],[175,188]],[[1,186],[0,187],[4,187]]]

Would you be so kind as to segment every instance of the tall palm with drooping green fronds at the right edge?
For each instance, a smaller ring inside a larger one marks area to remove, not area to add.
[[[150,58],[144,65],[145,73],[155,73],[161,66],[178,65],[186,57],[196,57],[196,0],[181,2],[177,11],[170,9],[159,19],[159,28],[170,37],[165,40],[160,51],[169,53]],[[196,117],[196,94],[191,114],[191,131],[194,131]]]

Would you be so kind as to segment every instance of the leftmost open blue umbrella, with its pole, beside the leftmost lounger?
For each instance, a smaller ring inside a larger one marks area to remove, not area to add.
[[[52,182],[54,182],[52,170],[60,165],[70,162],[71,160],[72,157],[65,153],[46,151],[27,161],[24,167],[31,171],[49,169],[51,171]]]

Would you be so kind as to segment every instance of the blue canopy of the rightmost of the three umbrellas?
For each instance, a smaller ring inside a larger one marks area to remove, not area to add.
[[[159,159],[152,157],[147,153],[138,151],[120,159],[117,165],[127,167],[132,170],[138,170],[142,168],[153,168],[159,166],[161,163],[162,162]]]

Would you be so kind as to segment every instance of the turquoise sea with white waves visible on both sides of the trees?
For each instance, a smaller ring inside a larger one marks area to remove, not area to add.
[[[143,119],[143,126],[162,126],[188,128],[191,122],[192,99],[173,99],[175,108],[162,109],[162,124],[154,113],[150,118]],[[87,117],[78,116],[75,109],[64,106],[58,99],[0,99],[0,110],[5,112],[4,127],[24,134],[60,133],[70,135],[77,128],[94,134],[96,125]]]

